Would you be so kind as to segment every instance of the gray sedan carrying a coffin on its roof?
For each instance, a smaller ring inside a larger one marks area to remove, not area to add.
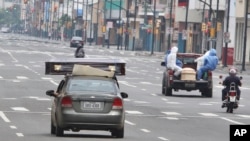
[[[123,98],[114,77],[65,75],[53,96],[51,134],[63,136],[64,130],[106,130],[117,138],[124,137]]]

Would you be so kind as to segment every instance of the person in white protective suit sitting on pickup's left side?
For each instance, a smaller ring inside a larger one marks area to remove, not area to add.
[[[174,71],[174,76],[178,77],[181,74],[182,68],[176,65],[178,48],[176,46],[171,48],[171,52],[167,57],[167,68]]]

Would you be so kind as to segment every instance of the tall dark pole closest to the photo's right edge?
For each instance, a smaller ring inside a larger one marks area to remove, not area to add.
[[[245,63],[246,63],[246,47],[247,47],[247,25],[248,25],[248,4],[249,1],[246,0],[245,4],[245,23],[244,23],[244,45],[243,45],[243,58],[242,58],[242,71],[245,71]]]

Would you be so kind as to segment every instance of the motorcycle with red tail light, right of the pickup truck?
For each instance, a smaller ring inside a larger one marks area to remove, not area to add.
[[[220,78],[222,79],[222,76],[220,76]],[[242,77],[240,77],[240,79],[242,79]],[[222,83],[220,82],[220,84]],[[236,85],[234,82],[232,82],[230,83],[229,91],[226,95],[226,100],[224,101],[224,106],[227,108],[227,113],[233,113],[233,110],[238,108],[239,102],[237,97],[238,93],[236,90]]]

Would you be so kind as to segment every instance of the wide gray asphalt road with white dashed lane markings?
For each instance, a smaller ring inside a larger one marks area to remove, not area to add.
[[[229,141],[231,124],[250,124],[250,77],[243,76],[240,107],[233,114],[221,108],[219,75],[213,73],[213,98],[198,91],[161,94],[163,60],[135,52],[85,46],[88,58],[123,58],[126,76],[119,76],[125,100],[124,141]],[[32,37],[0,33],[0,136],[4,141],[101,141],[117,140],[106,131],[65,132],[50,135],[50,106],[45,91],[56,89],[63,76],[45,75],[44,62],[71,58],[74,49]],[[0,140],[2,140],[0,139]]]

